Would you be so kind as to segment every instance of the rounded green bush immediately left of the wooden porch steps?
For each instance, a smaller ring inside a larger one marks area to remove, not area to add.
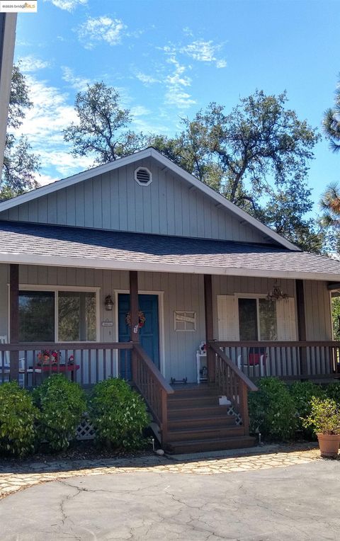
[[[89,415],[96,438],[109,448],[137,449],[150,422],[144,400],[124,380],[111,378],[94,386]]]

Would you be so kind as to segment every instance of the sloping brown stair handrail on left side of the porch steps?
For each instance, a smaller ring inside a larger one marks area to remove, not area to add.
[[[132,351],[132,381],[159,424],[162,445],[165,447],[168,435],[168,396],[174,393],[174,389],[152,363],[149,355],[136,343]]]

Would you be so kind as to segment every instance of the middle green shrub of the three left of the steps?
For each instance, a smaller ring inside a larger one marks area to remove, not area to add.
[[[51,450],[67,449],[69,440],[86,411],[84,391],[62,374],[53,374],[34,389],[35,404],[40,409],[38,435]]]

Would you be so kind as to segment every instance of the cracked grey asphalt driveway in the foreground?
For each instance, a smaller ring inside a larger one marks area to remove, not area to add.
[[[340,463],[74,477],[1,500],[0,528],[1,541],[339,540]]]

